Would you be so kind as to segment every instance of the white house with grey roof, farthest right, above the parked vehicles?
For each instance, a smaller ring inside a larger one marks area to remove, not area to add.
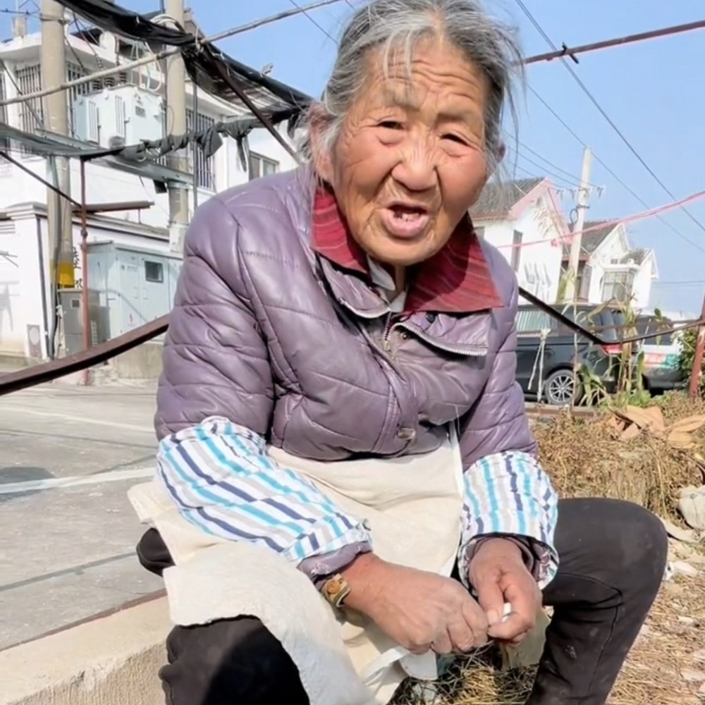
[[[651,285],[658,278],[656,254],[644,247],[632,247],[623,223],[584,223],[580,264],[577,272],[578,298],[599,304],[617,301],[635,309],[648,309]],[[564,264],[568,264],[568,250]]]

